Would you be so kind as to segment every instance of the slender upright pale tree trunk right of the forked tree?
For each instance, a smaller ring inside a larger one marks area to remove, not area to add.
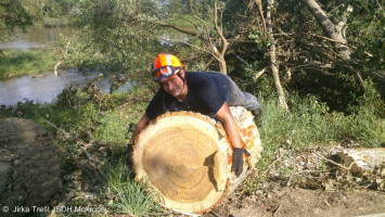
[[[280,76],[279,76],[279,67],[278,67],[278,63],[277,63],[277,56],[275,56],[275,43],[274,43],[274,38],[272,35],[272,24],[271,24],[271,2],[268,1],[268,7],[267,7],[267,14],[266,14],[266,23],[267,23],[267,29],[268,29],[268,35],[269,35],[269,39],[271,40],[271,44],[270,44],[270,62],[271,62],[271,71],[272,71],[272,76],[274,79],[274,85],[275,85],[275,89],[277,89],[277,93],[278,93],[278,98],[280,100],[280,105],[281,107],[286,111],[287,104],[286,104],[286,99],[285,95],[283,93],[283,89],[281,86],[281,81],[280,81]]]

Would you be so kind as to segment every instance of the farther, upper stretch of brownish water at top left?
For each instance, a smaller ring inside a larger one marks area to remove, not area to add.
[[[34,50],[46,48],[49,42],[60,40],[60,35],[70,36],[72,27],[33,28],[26,34],[16,29],[16,37],[7,44],[0,44],[0,49],[5,50]]]

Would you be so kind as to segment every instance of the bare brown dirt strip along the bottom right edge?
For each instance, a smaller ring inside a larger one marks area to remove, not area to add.
[[[385,192],[328,192],[321,189],[280,188],[279,183],[270,182],[266,192],[242,197],[234,194],[213,209],[213,213],[204,216],[385,216]]]

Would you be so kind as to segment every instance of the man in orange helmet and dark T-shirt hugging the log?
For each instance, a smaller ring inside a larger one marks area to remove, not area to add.
[[[193,111],[205,115],[215,114],[233,148],[232,171],[240,176],[243,170],[243,153],[241,137],[229,105],[241,105],[251,110],[259,118],[261,106],[258,99],[251,93],[242,92],[228,76],[221,73],[185,72],[184,65],[172,54],[159,53],[152,65],[153,79],[161,88],[151,100],[142,118],[133,130],[129,150],[139,131],[151,119],[170,111]]]

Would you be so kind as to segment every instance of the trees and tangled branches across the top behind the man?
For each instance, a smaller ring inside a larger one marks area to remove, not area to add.
[[[147,71],[156,53],[174,52],[188,69],[221,71],[248,91],[274,90],[280,82],[285,91],[333,102],[335,110],[364,94],[371,78],[378,90],[385,79],[378,0],[55,2],[76,4],[77,52],[116,71]]]

